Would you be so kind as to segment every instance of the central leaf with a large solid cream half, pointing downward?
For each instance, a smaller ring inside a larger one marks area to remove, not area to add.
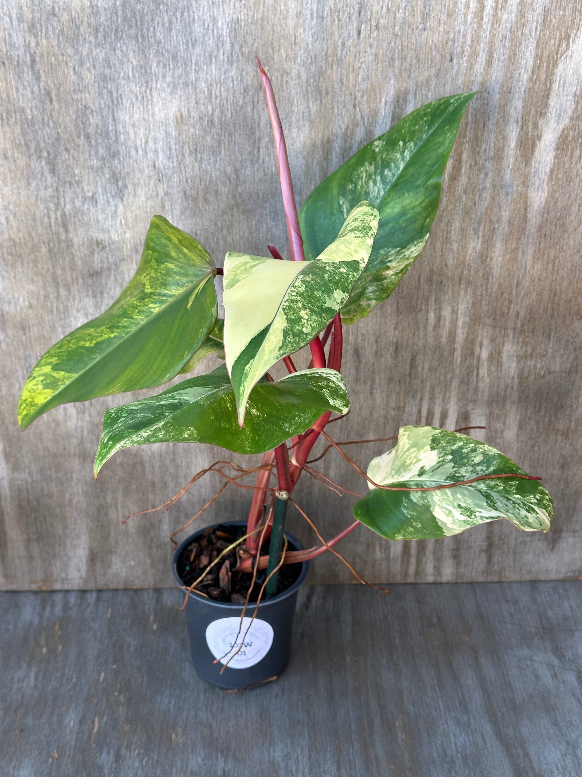
[[[345,304],[377,226],[378,211],[361,202],[314,261],[227,253],[224,350],[241,425],[252,387],[279,359],[313,340]]]

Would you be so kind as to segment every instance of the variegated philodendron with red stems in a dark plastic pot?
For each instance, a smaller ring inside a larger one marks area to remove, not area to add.
[[[402,427],[394,447],[373,458],[366,472],[326,431],[349,409],[342,326],[386,300],[421,253],[473,94],[414,110],[320,183],[297,213],[275,97],[260,62],[259,69],[289,260],[268,246],[269,258],[229,252],[218,268],[196,239],[154,216],[140,265],[120,297],[43,355],[19,402],[26,428],[64,402],[159,386],[192,371],[207,354],[225,360],[210,374],[109,409],[95,477],[116,451],[152,442],[210,443],[263,455],[255,466],[215,462],[162,506],[171,507],[210,471],[225,481],[199,514],[229,483],[253,490],[246,523],[223,521],[196,532],[178,546],[173,562],[188,602],[196,668],[226,688],[280,674],[310,559],[329,550],[345,561],[333,546],[359,524],[383,538],[411,540],[447,537],[498,518],[523,531],[548,531],[553,512],[539,478],[462,430]],[[217,318],[217,275],[223,275],[223,321]],[[307,346],[310,365],[297,371],[292,354]],[[288,375],[275,380],[269,370],[279,361]],[[302,472],[346,491],[310,465],[320,437],[327,441],[324,453],[336,451],[368,486],[365,495],[355,494],[355,521],[327,541],[293,500]],[[244,483],[248,476],[256,477],[254,486]],[[305,550],[286,534],[289,503],[314,528],[319,545]]]

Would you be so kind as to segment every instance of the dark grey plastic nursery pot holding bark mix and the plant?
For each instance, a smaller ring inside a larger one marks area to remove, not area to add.
[[[213,528],[245,526],[244,521],[221,521]],[[182,550],[191,542],[196,542],[203,535],[204,529],[178,545],[172,559],[172,572],[178,586],[184,583],[178,576],[177,564]],[[293,535],[286,538],[289,550],[303,550],[303,545]],[[190,639],[190,652],[196,671],[201,678],[219,688],[242,690],[279,677],[289,659],[291,645],[291,629],[297,601],[297,592],[309,571],[309,562],[304,561],[299,577],[293,584],[280,594],[262,600],[258,612],[251,624],[256,602],[248,605],[244,616],[243,628],[239,632],[241,614],[244,605],[229,601],[215,601],[194,593],[189,594],[185,607],[186,623]],[[239,653],[230,661],[220,674],[223,665],[230,655],[237,650],[240,640],[244,637],[244,645]],[[238,636],[237,636],[238,634]],[[219,659],[217,661],[217,659]],[[216,662],[216,663],[215,663]]]

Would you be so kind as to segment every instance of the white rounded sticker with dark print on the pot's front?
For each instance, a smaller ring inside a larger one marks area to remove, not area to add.
[[[227,660],[237,652],[228,664],[232,669],[248,669],[264,658],[271,650],[273,629],[270,623],[255,618],[220,618],[213,621],[206,629],[206,644],[210,653],[226,664]],[[248,627],[251,626],[249,629]],[[247,631],[248,629],[248,631]],[[241,644],[242,643],[242,644]]]

